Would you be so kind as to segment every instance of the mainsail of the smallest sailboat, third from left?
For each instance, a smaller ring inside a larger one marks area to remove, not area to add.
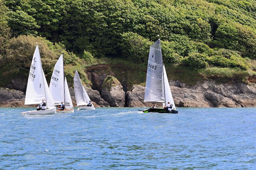
[[[88,102],[84,95],[85,89],[82,85],[81,79],[77,71],[74,76],[74,91],[76,96],[76,105],[77,106],[86,105]]]

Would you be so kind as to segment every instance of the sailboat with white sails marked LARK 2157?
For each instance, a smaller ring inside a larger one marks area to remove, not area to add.
[[[49,89],[55,105],[61,105],[61,102],[65,104],[65,109],[57,109],[57,113],[74,113],[68,82],[64,72],[63,54],[60,55],[59,60],[54,66]]]

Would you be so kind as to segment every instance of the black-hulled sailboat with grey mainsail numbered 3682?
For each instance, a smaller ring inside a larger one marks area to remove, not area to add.
[[[144,113],[178,113],[164,67],[160,39],[150,46],[144,102],[163,103],[163,108],[140,110]],[[164,108],[168,102],[172,106],[171,111]]]

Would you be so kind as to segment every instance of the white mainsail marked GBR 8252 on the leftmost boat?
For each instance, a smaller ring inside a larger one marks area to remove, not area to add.
[[[28,75],[25,104],[39,104],[43,99],[45,99],[45,89],[42,63],[39,48],[36,46]]]

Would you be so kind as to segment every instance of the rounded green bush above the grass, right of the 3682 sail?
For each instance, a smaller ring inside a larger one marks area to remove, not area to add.
[[[205,54],[190,53],[188,57],[183,60],[183,63],[194,69],[206,68],[208,66],[206,57],[207,56]]]

